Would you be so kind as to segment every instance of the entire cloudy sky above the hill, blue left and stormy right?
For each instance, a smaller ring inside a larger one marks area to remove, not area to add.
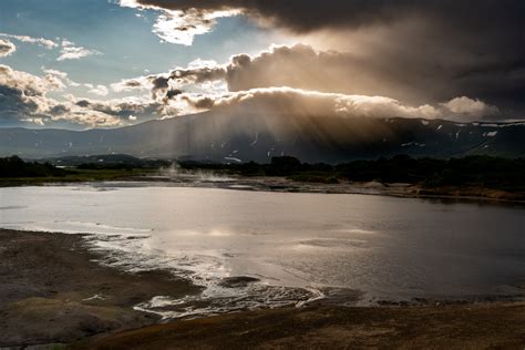
[[[524,120],[524,27],[521,0],[2,0],[0,127]]]

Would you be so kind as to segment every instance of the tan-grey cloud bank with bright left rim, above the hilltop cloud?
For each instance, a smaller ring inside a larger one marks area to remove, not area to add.
[[[444,72],[425,79],[405,72],[402,76],[404,84],[399,82],[400,79],[395,71],[389,70],[382,56],[362,59],[350,52],[316,51],[309,45],[298,44],[275,47],[255,56],[238,54],[227,64],[191,64],[169,73],[124,80],[114,85],[117,89],[151,89],[152,95],[162,97],[164,103],[181,93],[177,87],[217,81],[224,81],[229,92],[288,86],[322,93],[389,96],[409,104],[442,103],[465,94],[462,89],[451,86],[449,82],[453,76]],[[162,89],[152,84],[156,80],[164,82]],[[169,93],[174,89],[177,93]],[[206,99],[199,101],[198,107],[206,103]],[[490,114],[491,117],[495,115]]]

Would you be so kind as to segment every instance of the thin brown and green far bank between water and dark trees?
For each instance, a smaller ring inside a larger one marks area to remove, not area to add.
[[[113,172],[90,175],[87,177],[41,177],[41,178],[4,178],[0,187],[50,186],[96,184],[101,182],[150,182],[168,186],[218,187],[236,191],[264,191],[285,193],[326,193],[393,196],[402,198],[426,198],[443,200],[470,200],[486,203],[525,204],[525,193],[508,192],[484,187],[423,187],[416,184],[379,183],[379,182],[340,182],[337,184],[292,181],[286,177],[231,176],[213,173],[183,173],[175,176],[165,174],[126,174]]]

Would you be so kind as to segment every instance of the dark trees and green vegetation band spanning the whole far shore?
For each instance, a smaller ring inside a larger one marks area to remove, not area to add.
[[[0,158],[0,186],[40,185],[97,181],[161,181],[161,169],[179,165],[179,174],[213,173],[235,176],[237,181],[272,178],[291,184],[330,186],[330,192],[348,193],[344,187],[379,184],[389,194],[403,196],[444,196],[525,200],[525,159],[467,156],[436,159],[397,155],[391,158],[363,159],[331,164],[301,163],[291,156],[272,157],[268,164],[208,163],[194,161],[142,159],[128,155],[75,156],[22,161],[17,156]],[[164,181],[174,181],[164,177]],[[394,185],[395,184],[395,185]],[[404,184],[410,187],[400,187]],[[344,187],[344,188],[343,188]],[[400,191],[405,188],[403,194]],[[409,191],[410,189],[410,191]],[[322,188],[319,188],[322,191]]]

